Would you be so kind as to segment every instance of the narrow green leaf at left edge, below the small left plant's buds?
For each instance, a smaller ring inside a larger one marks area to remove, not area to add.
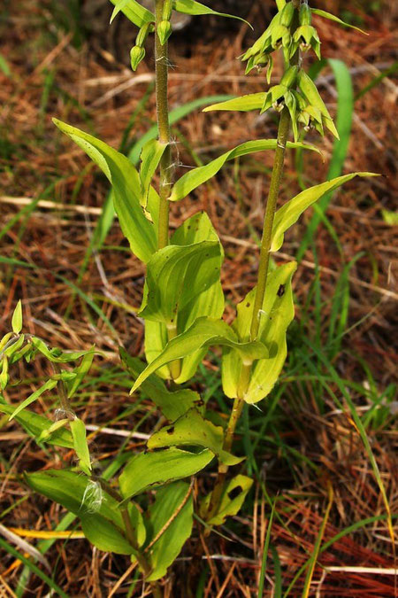
[[[5,413],[6,415],[12,415],[14,411],[15,409],[11,405],[4,403],[0,397],[0,412]],[[71,431],[66,430],[65,428],[54,431],[49,437],[43,438],[43,436],[46,436],[45,432],[50,430],[51,426],[54,424],[48,417],[38,415],[37,413],[34,413],[34,411],[29,411],[28,409],[22,409],[18,415],[15,415],[15,419],[30,436],[34,437],[34,439],[38,440],[42,437],[41,441],[46,442],[49,445],[73,448]]]

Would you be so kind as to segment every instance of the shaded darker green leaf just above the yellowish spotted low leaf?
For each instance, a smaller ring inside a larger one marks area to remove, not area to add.
[[[138,357],[130,357],[122,347],[119,348],[119,353],[128,372],[136,380],[145,369],[145,363]],[[153,400],[165,418],[171,422],[178,419],[180,415],[184,415],[192,407],[200,408],[203,402],[197,392],[188,388],[170,392],[165,383],[154,375],[145,380],[142,384],[142,391],[149,396],[149,399]]]

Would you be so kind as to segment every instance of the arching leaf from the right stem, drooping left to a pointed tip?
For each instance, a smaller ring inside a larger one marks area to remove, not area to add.
[[[164,351],[143,370],[142,374],[136,379],[130,392],[134,392],[141,386],[142,382],[153,374],[158,368],[166,363],[185,357],[186,355],[209,346],[228,346],[236,349],[241,354],[242,359],[251,362],[260,357],[268,355],[268,351],[263,343],[255,341],[252,343],[239,343],[233,330],[226,322],[213,318],[198,318],[192,326],[172,338],[167,343]],[[177,378],[176,382],[179,382]]]

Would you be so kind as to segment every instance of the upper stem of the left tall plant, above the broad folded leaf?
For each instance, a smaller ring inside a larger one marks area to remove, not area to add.
[[[156,0],[156,28],[162,20],[165,0]],[[162,249],[169,243],[169,196],[172,183],[172,150],[170,147],[169,105],[167,99],[168,45],[160,43],[155,31],[155,64],[156,64],[156,97],[157,97],[157,129],[161,144],[167,148],[160,160],[159,183],[159,226],[157,248]]]

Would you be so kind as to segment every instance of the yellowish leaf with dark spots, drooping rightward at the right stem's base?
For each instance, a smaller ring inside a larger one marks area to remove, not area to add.
[[[226,465],[236,465],[242,461],[240,457],[226,453],[223,445],[224,431],[221,426],[216,426],[204,419],[195,408],[189,409],[172,425],[165,426],[152,434],[148,440],[149,448],[203,447],[217,454],[218,459]]]

